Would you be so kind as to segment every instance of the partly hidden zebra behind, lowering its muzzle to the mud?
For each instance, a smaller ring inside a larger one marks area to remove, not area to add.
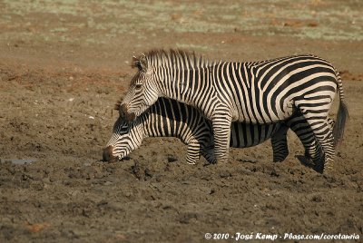
[[[115,109],[119,110],[120,102]],[[331,122],[331,121],[330,121]],[[291,128],[305,147],[309,158],[322,156],[319,144],[309,129],[309,124],[301,115],[295,115],[285,122],[268,125],[232,122],[231,147],[247,148],[271,138],[273,161],[282,161],[288,156],[286,133]],[[103,160],[123,159],[136,150],[147,137],[177,137],[188,144],[186,160],[194,164],[203,155],[209,163],[214,163],[213,134],[211,121],[192,106],[171,99],[159,98],[150,109],[143,112],[132,123],[119,118],[113,126],[113,135],[103,151]]]

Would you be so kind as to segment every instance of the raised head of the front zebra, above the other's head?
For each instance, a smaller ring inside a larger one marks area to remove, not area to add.
[[[134,121],[159,97],[156,75],[148,57],[144,54],[139,58],[133,57],[132,67],[137,68],[137,73],[120,105],[119,112],[123,121]]]

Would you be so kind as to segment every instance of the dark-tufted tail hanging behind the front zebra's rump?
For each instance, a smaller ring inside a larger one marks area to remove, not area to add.
[[[340,97],[337,121],[335,122],[333,134],[334,134],[334,145],[337,146],[338,143],[343,139],[344,129],[346,126],[346,121],[349,117],[348,105],[344,100],[343,84],[341,83],[341,77],[338,71],[337,73],[337,83],[338,83],[338,93]]]

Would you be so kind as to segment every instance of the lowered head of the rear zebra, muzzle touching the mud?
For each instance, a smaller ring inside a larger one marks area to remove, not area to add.
[[[116,108],[119,106],[120,103],[116,104]],[[141,146],[142,138],[141,119],[128,122],[119,117],[113,125],[113,135],[103,150],[103,160],[110,162],[123,160],[131,151]]]

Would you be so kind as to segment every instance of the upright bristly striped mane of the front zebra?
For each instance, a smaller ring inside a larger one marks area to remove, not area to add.
[[[152,50],[148,53],[142,54],[139,58],[134,59],[134,64],[132,64],[132,66],[135,66],[138,63],[142,63],[142,59],[144,59],[148,65],[152,65],[153,67],[160,67],[165,65],[174,67],[177,66],[179,63],[179,65],[183,65],[184,69],[208,67],[216,63],[191,51],[185,51],[180,49],[160,49]]]

